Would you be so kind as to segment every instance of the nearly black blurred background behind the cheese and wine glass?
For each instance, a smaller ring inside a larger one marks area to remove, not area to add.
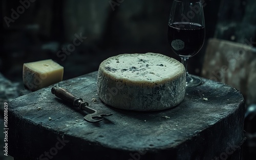
[[[0,72],[12,81],[22,81],[23,63],[44,59],[64,66],[64,79],[95,71],[104,59],[123,53],[158,52],[180,60],[167,44],[172,1],[112,1],[112,6],[109,0],[26,2],[24,11],[19,1],[1,3]],[[220,0],[204,4],[207,42],[214,35]],[[73,49],[69,44],[75,34],[87,38]],[[193,74],[201,72],[205,46],[189,60]],[[70,55],[63,50],[67,47]]]

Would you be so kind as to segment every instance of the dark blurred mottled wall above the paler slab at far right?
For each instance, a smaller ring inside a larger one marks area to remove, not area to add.
[[[221,1],[215,38],[256,46],[256,1]]]

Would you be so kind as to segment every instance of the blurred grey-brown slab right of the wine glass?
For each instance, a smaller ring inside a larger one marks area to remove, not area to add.
[[[256,49],[249,44],[210,39],[202,76],[238,89],[247,105],[256,104]]]

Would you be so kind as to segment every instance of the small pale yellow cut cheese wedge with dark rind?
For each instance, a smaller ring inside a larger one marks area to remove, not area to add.
[[[63,67],[53,60],[24,63],[23,82],[31,91],[62,81]]]

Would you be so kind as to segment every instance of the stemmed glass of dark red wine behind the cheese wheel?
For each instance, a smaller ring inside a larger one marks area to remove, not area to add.
[[[168,43],[186,69],[186,86],[196,87],[201,78],[188,74],[187,61],[202,48],[205,39],[201,0],[174,0],[168,21]]]

